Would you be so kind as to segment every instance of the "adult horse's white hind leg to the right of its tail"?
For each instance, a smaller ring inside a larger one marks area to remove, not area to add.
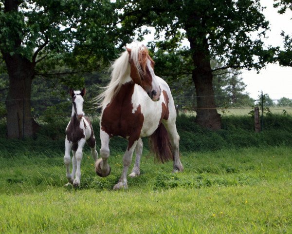
[[[175,122],[171,122],[169,120],[163,120],[162,123],[167,130],[168,137],[172,146],[173,152],[173,171],[172,172],[182,172],[183,171],[183,164],[180,160],[180,136],[177,132]]]

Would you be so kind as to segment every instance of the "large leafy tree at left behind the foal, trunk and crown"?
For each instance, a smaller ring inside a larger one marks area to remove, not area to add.
[[[37,75],[66,62],[86,71],[99,64],[92,58],[113,58],[115,45],[128,37],[119,34],[117,20],[115,3],[108,0],[0,0],[0,52],[9,75],[7,137],[37,130],[30,103]]]

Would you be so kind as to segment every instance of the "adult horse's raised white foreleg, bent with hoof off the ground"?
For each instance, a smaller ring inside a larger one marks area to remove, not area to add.
[[[100,156],[101,158],[97,159],[95,162],[95,172],[98,176],[106,177],[110,175],[110,165],[108,164],[108,158],[110,156],[110,136],[103,130],[100,130],[99,133],[101,148],[100,148]]]

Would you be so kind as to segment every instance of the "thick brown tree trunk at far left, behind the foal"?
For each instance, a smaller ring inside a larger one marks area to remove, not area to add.
[[[2,53],[9,75],[6,98],[7,138],[32,137],[38,128],[31,115],[31,85],[35,64],[19,55]]]

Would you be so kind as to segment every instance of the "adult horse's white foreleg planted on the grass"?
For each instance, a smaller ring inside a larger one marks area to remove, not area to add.
[[[119,179],[119,182],[115,186],[113,186],[113,189],[121,189],[121,188],[127,189],[128,188],[127,172],[132,162],[132,156],[133,156],[133,152],[134,152],[137,142],[138,141],[135,141],[132,147],[130,149],[127,149],[127,151],[125,152],[123,156],[124,168],[123,168],[122,176]]]

